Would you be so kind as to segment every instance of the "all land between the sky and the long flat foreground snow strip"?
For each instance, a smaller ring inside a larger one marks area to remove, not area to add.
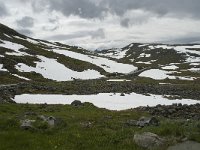
[[[33,39],[0,25],[3,99],[26,93],[136,92],[199,100],[199,70],[200,45],[196,44],[133,43],[92,52]]]

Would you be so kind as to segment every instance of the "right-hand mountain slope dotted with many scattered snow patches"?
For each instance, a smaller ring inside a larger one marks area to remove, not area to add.
[[[163,80],[198,80],[200,77],[200,45],[166,45],[133,43],[122,49],[98,51],[99,55],[118,59],[139,69],[147,68],[141,77]]]

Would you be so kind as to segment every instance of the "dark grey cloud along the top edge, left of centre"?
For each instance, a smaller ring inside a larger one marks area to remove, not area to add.
[[[45,2],[38,0],[32,2],[32,7],[35,12],[47,8],[50,11],[56,10],[61,12],[65,16],[77,15],[88,19],[101,18],[106,10],[89,0],[45,0]]]

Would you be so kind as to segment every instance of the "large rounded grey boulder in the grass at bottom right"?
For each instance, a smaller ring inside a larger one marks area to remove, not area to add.
[[[158,135],[151,132],[144,132],[142,134],[135,134],[134,141],[138,146],[146,149],[157,148],[165,144],[165,140]]]

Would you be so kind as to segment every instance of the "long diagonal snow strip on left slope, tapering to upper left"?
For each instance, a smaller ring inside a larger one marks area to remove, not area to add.
[[[137,67],[133,65],[118,63],[116,61],[109,60],[107,58],[84,55],[84,54],[80,54],[80,53],[76,53],[76,52],[72,52],[68,50],[60,50],[60,49],[53,49],[53,52],[58,53],[58,54],[63,54],[67,57],[71,57],[71,58],[78,59],[81,61],[92,63],[96,66],[103,68],[106,72],[109,72],[109,73],[118,72],[118,73],[127,74],[134,70],[137,70]]]

